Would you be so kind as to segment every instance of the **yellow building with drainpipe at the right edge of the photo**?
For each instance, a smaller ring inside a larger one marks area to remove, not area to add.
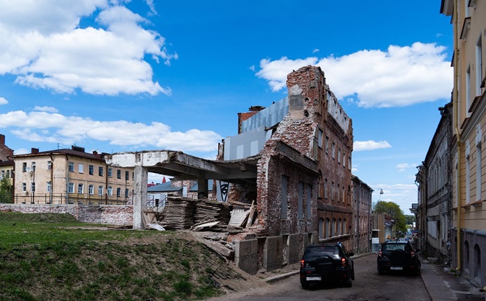
[[[452,265],[486,285],[486,1],[442,0],[453,24]]]

